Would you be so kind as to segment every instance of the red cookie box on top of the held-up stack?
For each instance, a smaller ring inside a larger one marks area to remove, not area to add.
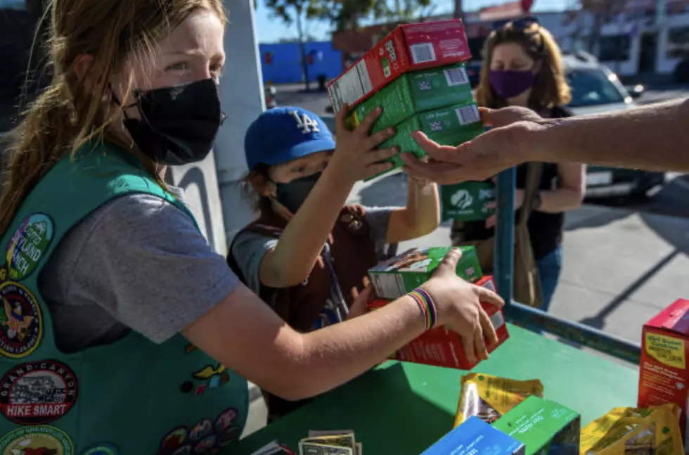
[[[470,58],[459,19],[399,25],[328,84],[330,103],[337,113],[345,103],[353,107],[405,72]]]

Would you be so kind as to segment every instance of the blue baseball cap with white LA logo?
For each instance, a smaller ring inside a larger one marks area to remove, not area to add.
[[[244,138],[250,170],[261,163],[280,165],[325,150],[335,150],[335,139],[326,123],[318,115],[293,106],[266,110]]]

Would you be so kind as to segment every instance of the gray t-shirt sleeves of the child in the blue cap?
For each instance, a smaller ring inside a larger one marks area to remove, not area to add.
[[[371,240],[373,240],[376,252],[381,252],[385,247],[390,214],[396,209],[397,207],[364,207],[366,210],[364,217],[371,228]],[[275,248],[277,243],[275,238],[244,231],[237,234],[231,245],[231,254],[242,271],[247,286],[256,294],[259,294],[261,289],[259,280],[261,261],[266,252]]]

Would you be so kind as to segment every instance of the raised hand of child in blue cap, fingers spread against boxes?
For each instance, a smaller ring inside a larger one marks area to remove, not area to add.
[[[347,184],[354,184],[356,181],[368,179],[391,169],[392,163],[381,161],[394,156],[397,148],[375,150],[380,143],[394,135],[394,128],[386,128],[370,134],[373,124],[382,113],[381,108],[367,115],[354,131],[347,130],[345,119],[348,113],[349,106],[345,105],[335,115],[337,148],[335,148],[333,158],[330,158],[328,169],[333,167],[333,172],[344,177]]]

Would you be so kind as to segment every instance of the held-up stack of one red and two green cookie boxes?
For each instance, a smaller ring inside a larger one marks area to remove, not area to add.
[[[483,132],[463,63],[470,56],[461,20],[400,25],[328,84],[330,102],[335,113],[349,105],[350,128],[380,106],[373,132],[397,129],[380,147],[423,158],[415,130],[451,146]],[[399,155],[390,160],[403,165]]]

